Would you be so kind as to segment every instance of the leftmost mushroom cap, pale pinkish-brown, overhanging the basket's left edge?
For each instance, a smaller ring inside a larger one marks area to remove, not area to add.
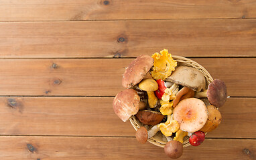
[[[135,115],[139,111],[139,101],[139,95],[133,89],[119,92],[113,101],[115,114],[122,121],[127,121],[131,115]]]

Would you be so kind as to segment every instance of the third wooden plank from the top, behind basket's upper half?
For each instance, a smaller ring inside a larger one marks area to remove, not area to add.
[[[133,59],[0,59],[0,95],[115,96]],[[255,97],[255,58],[198,58],[228,95]],[[56,68],[52,67],[56,64]]]

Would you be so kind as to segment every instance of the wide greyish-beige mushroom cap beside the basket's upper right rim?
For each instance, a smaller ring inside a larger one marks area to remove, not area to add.
[[[194,91],[202,91],[206,87],[204,75],[198,69],[186,66],[176,67],[166,81],[189,87]]]

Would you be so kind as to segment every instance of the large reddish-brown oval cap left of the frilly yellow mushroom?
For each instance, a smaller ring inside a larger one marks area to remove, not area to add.
[[[123,73],[123,87],[131,88],[139,83],[152,66],[153,58],[149,55],[140,55],[134,59]]]

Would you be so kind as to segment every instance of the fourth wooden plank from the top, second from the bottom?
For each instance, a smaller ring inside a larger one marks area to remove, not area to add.
[[[0,135],[134,137],[112,109],[113,97],[0,97]],[[206,137],[256,138],[256,98],[230,98]]]

